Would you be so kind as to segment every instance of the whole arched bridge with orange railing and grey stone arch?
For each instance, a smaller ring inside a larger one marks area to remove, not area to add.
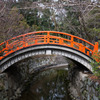
[[[95,51],[98,51],[98,42],[92,44],[63,32],[31,32],[0,44],[0,72],[22,59],[43,54],[63,55],[92,71],[89,62]]]

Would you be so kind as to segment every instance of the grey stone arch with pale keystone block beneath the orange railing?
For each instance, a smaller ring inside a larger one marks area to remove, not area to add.
[[[4,58],[0,62],[0,72],[5,71],[7,68],[9,68],[11,65],[26,59],[28,57],[32,57],[35,55],[61,55],[65,56],[67,58],[70,58],[86,68],[88,68],[90,71],[92,71],[92,67],[90,65],[90,61],[92,60],[89,56],[84,55],[83,53],[74,50],[69,47],[64,47],[60,45],[38,45],[33,47],[28,47],[21,49],[15,53],[10,54],[6,58]]]

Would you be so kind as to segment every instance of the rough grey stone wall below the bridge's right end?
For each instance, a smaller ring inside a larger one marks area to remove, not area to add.
[[[100,100],[100,83],[90,75],[88,71],[77,68],[70,71],[69,91],[74,100]]]

